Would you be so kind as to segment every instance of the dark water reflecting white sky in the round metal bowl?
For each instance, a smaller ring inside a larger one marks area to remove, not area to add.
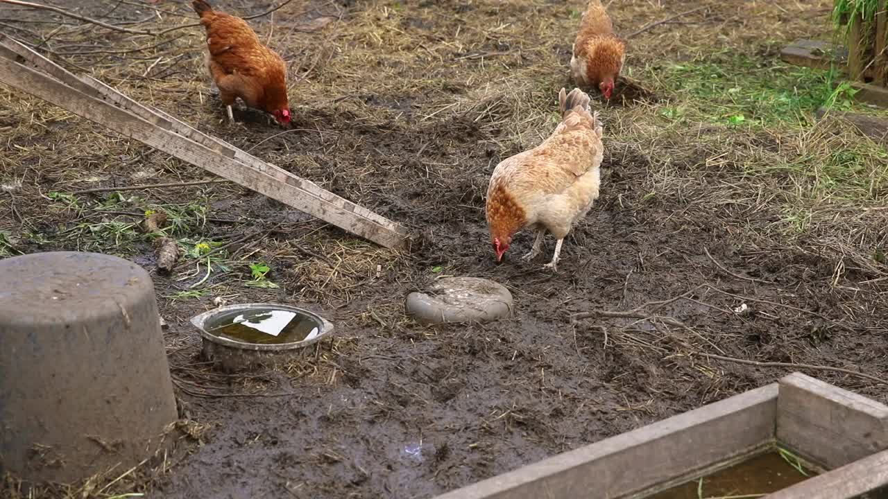
[[[313,317],[276,308],[228,313],[208,326],[211,335],[262,345],[295,343],[321,334],[321,324]]]

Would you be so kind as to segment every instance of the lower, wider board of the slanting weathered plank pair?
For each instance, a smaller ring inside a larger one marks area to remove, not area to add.
[[[352,211],[327,202],[294,185],[300,183],[301,178],[292,176],[295,182],[281,181],[280,178],[272,177],[265,172],[246,168],[242,163],[216,154],[191,139],[157,128],[139,116],[111,106],[103,100],[92,98],[81,91],[75,91],[48,75],[38,73],[10,59],[0,58],[0,81],[386,248],[397,248],[405,242],[403,234],[369,222],[365,218],[356,216]]]

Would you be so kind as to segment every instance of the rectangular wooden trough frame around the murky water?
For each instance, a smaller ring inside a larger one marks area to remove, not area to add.
[[[888,485],[888,406],[794,373],[435,499],[641,499],[778,444],[824,472],[769,499],[852,499]]]

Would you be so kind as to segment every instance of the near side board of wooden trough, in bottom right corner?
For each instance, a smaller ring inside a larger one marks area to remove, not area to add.
[[[888,451],[845,464],[762,499],[854,499],[884,486],[888,486]],[[885,491],[870,495],[871,499],[886,496]]]

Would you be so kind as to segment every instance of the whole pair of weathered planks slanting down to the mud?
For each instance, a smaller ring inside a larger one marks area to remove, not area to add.
[[[19,59],[52,78],[20,64]],[[170,115],[142,106],[98,80],[78,78],[9,38],[0,42],[0,81],[386,248],[406,242],[406,231],[388,219]]]

